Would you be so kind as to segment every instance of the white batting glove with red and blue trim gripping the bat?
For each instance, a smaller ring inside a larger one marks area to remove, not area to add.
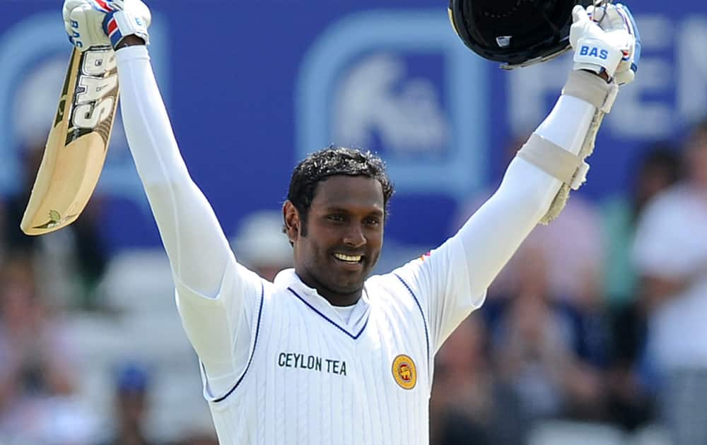
[[[108,46],[115,49],[128,35],[149,43],[149,8],[140,0],[64,0],[64,28],[79,50]]]

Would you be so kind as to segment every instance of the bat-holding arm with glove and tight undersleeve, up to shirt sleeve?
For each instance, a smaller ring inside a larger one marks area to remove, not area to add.
[[[79,50],[116,50],[125,133],[175,279],[213,296],[230,248],[177,147],[146,48],[150,21],[138,0],[64,1],[66,31]]]

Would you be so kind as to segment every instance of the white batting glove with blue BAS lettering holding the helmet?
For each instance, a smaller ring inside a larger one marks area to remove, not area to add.
[[[621,4],[572,10],[570,44],[574,49],[575,70],[607,73],[609,80],[629,83],[636,75],[641,56],[636,22]]]

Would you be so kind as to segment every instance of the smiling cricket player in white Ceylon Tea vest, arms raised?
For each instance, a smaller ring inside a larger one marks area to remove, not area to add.
[[[499,0],[493,17],[523,23],[523,8],[535,4]],[[326,148],[292,174],[283,216],[295,267],[270,282],[238,263],[189,177],[150,65],[146,7],[65,1],[76,47],[116,49],[125,132],[222,444],[428,443],[436,352],[482,304],[530,230],[582,182],[617,79],[633,80],[630,14],[607,6],[602,16],[606,30],[582,6],[573,20],[563,18],[577,49],[563,94],[457,235],[392,273],[369,276],[392,185],[375,155]]]

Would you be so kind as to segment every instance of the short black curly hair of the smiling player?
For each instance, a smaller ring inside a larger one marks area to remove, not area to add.
[[[329,146],[308,155],[292,172],[287,199],[300,214],[303,236],[307,235],[307,215],[317,185],[339,174],[378,180],[383,190],[383,206],[387,218],[388,201],[393,194],[393,184],[385,172],[385,162],[369,150]]]

